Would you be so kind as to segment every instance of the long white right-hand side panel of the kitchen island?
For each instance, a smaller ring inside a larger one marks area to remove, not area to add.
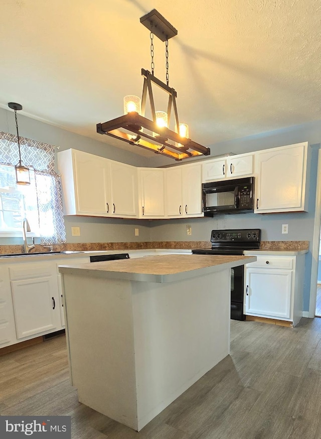
[[[230,269],[133,282],[138,431],[229,354]]]

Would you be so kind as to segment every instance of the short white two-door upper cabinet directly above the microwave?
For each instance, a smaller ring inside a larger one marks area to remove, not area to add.
[[[203,183],[253,174],[253,154],[239,154],[203,163]]]

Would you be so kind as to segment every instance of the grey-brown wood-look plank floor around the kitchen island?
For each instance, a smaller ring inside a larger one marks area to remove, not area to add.
[[[63,336],[0,357],[0,376],[2,415],[70,415],[74,439],[321,438],[320,318],[232,320],[231,355],[139,433],[77,401]]]

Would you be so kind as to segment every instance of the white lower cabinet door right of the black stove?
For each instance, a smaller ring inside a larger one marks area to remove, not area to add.
[[[292,270],[248,268],[245,313],[291,318]]]

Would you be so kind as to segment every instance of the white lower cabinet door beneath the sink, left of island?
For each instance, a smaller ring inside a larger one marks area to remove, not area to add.
[[[55,312],[59,312],[57,286],[53,276],[11,282],[17,339],[56,327]]]

